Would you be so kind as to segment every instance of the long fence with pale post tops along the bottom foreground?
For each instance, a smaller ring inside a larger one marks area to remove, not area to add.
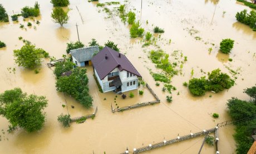
[[[190,138],[194,138],[194,137],[198,137],[198,136],[202,136],[202,135],[207,135],[207,134],[210,134],[210,133],[215,133],[215,134],[218,134],[218,127],[215,127],[213,129],[209,129],[209,130],[203,130],[203,131],[200,131],[200,132],[197,132],[195,134],[193,133],[190,133],[190,135],[185,135],[185,136],[178,136],[172,140],[164,140],[163,142],[159,142],[159,143],[155,143],[153,145],[149,145],[149,146],[145,146],[145,147],[141,147],[141,148],[134,148],[134,154],[136,153],[140,153],[140,152],[144,152],[144,151],[149,151],[149,150],[152,150],[154,148],[159,148],[159,147],[163,147],[163,146],[166,146],[166,145],[171,145],[173,143],[176,143],[176,142],[180,142],[180,141],[185,141],[185,140],[189,140]],[[218,136],[218,135],[217,135]],[[216,135],[215,135],[216,137]],[[215,138],[215,140],[219,140],[219,138]],[[218,142],[216,142],[218,143]],[[126,149],[126,151],[124,153],[121,153],[121,154],[126,154],[126,153],[129,153],[129,150]]]

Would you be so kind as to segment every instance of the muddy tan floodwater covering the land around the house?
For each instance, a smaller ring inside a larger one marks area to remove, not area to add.
[[[35,1],[1,0],[0,3],[6,8],[8,14],[12,15],[13,12],[18,13],[24,6],[33,6]],[[169,140],[178,135],[188,135],[190,131],[210,129],[218,122],[230,120],[226,103],[232,96],[249,100],[242,91],[256,83],[256,56],[254,55],[256,33],[235,19],[235,13],[238,11],[245,8],[249,10],[242,3],[207,0],[144,0],[141,10],[141,1],[121,1],[121,4],[126,4],[126,11],[132,9],[136,13],[137,19],[141,20],[141,26],[146,32],[152,32],[155,25],[165,29],[165,33],[161,34],[156,45],[166,53],[171,54],[174,50],[180,50],[184,56],[188,57],[188,61],[184,63],[182,75],[176,75],[172,79],[172,84],[177,90],[174,91],[173,102],[170,104],[165,99],[167,92],[161,91],[163,84],[157,87],[149,71],[149,69],[152,71],[156,69],[147,55],[151,49],[157,49],[157,47],[151,45],[141,48],[143,44],[141,39],[130,39],[129,26],[122,23],[118,16],[107,18],[107,14],[100,11],[102,8],[97,8],[96,3],[75,0],[68,6],[70,8],[68,24],[60,28],[60,25],[54,23],[50,17],[52,4],[43,0],[38,3],[41,16],[36,20],[40,21],[40,25],[32,19],[23,21],[22,17],[19,17],[19,23],[12,21],[0,23],[0,40],[7,45],[6,48],[0,49],[0,92],[20,87],[28,94],[46,96],[48,99],[48,107],[45,109],[47,121],[45,127],[39,132],[28,134],[19,129],[11,134],[1,133],[0,153],[104,153],[104,151],[121,153],[126,150],[126,147],[132,151],[133,148],[150,143]],[[109,6],[111,9],[114,7]],[[32,22],[32,28],[27,27],[28,20]],[[111,104],[121,107],[154,98],[147,92],[139,96],[138,90],[134,90],[136,94],[134,98],[127,97],[122,100],[118,95],[117,105],[115,105],[115,94],[99,92],[92,76],[92,68],[88,66],[93,107],[87,110],[71,97],[65,97],[56,91],[55,75],[46,66],[48,60],[43,61],[39,74],[14,63],[13,50],[23,45],[22,41],[18,40],[20,36],[36,44],[36,47],[45,49],[51,56],[61,58],[66,54],[66,43],[77,40],[76,23],[80,40],[84,44],[90,42],[92,38],[97,39],[100,44],[104,44],[107,40],[117,43],[121,52],[126,54],[146,83],[160,97],[161,103],[113,114]],[[26,29],[19,28],[19,24],[24,24]],[[190,35],[189,32],[192,31],[196,33]],[[196,40],[195,37],[200,37],[201,40]],[[229,55],[219,53],[219,42],[224,38],[235,40],[234,49]],[[171,39],[170,44],[169,39]],[[210,53],[209,48],[213,49]],[[228,61],[228,58],[232,58],[233,61]],[[15,68],[16,71],[10,73],[7,68]],[[235,75],[237,76],[236,84],[229,90],[218,94],[207,93],[202,97],[191,96],[188,89],[182,85],[184,81],[192,78],[191,69],[194,69],[193,77],[199,77],[204,75],[202,72],[207,73],[216,68],[228,74],[230,74],[228,68],[237,70],[239,74]],[[57,116],[61,113],[67,114],[67,107],[62,107],[66,102],[71,117],[91,114],[98,107],[97,115],[93,120],[89,119],[83,124],[73,123],[70,128],[64,129],[57,122]],[[72,109],[71,105],[75,108]],[[220,117],[213,119],[211,116],[213,112],[218,113]],[[4,117],[0,117],[0,129],[4,131],[8,129],[8,121]],[[235,153],[233,133],[233,126],[220,129],[218,147],[221,153]],[[197,153],[202,141],[202,137],[194,138],[145,153]],[[215,148],[204,145],[201,153],[215,153]]]

